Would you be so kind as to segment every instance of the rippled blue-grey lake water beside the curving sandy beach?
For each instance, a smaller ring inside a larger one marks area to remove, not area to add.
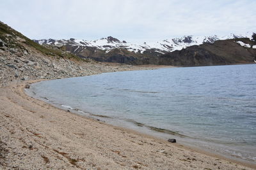
[[[30,90],[81,115],[255,161],[255,73],[256,64],[125,71]]]

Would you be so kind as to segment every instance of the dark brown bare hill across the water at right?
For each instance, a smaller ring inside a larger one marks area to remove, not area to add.
[[[253,63],[256,42],[249,38],[218,40],[166,53],[157,64],[172,66],[212,66]]]

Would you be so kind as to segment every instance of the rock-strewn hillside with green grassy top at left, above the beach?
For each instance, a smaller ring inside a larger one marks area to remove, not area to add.
[[[83,60],[70,52],[38,45],[0,22],[1,85],[10,81],[67,78],[132,69],[147,67]]]

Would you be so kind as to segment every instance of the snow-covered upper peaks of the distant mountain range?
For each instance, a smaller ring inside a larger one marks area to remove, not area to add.
[[[108,38],[101,38],[95,41],[87,41],[83,39],[40,39],[34,40],[40,45],[47,44],[57,47],[61,46],[72,46],[70,52],[77,53],[81,52],[86,48],[95,48],[102,50],[105,53],[109,53],[113,49],[125,49],[129,52],[144,53],[147,50],[158,53],[159,55],[173,52],[175,50],[182,50],[193,45],[202,45],[203,43],[214,43],[217,40],[234,39],[234,38],[251,38],[252,32],[246,32],[244,34],[229,34],[228,36],[183,36],[181,38],[164,39],[163,41],[149,42],[149,43],[129,43],[127,41],[120,41],[119,39],[109,36]]]

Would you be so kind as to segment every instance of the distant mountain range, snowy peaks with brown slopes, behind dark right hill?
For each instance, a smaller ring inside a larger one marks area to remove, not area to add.
[[[40,45],[60,49],[71,52],[81,59],[93,59],[100,62],[118,62],[125,64],[170,64],[170,61],[164,60],[166,57],[162,55],[173,52],[177,60],[177,50],[188,48],[189,46],[202,45],[204,43],[212,44],[221,39],[239,39],[251,38],[252,32],[247,32],[243,35],[230,34],[228,36],[218,37],[205,36],[184,36],[182,38],[165,39],[156,43],[134,44],[127,43],[127,41],[120,41],[119,39],[109,36],[108,38],[97,39],[95,41],[86,41],[79,39],[41,39],[34,40]],[[236,40],[235,40],[236,41]],[[194,46],[195,47],[195,46]],[[196,48],[196,47],[195,47]],[[182,59],[181,59],[182,60]],[[216,59],[217,60],[217,59]],[[243,62],[243,61],[241,61]],[[180,61],[180,63],[183,63]],[[227,63],[230,63],[227,61]],[[206,64],[206,63],[205,63]],[[209,63],[208,65],[211,65]],[[221,64],[225,64],[221,63]],[[207,64],[206,64],[207,65]],[[184,65],[187,66],[187,65]],[[189,65],[190,66],[190,65]],[[194,65],[191,65],[194,66]]]

